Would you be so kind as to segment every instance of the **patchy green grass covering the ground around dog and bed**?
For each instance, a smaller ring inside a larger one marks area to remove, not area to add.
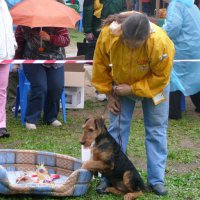
[[[77,158],[81,157],[79,137],[81,126],[88,115],[102,113],[105,103],[85,102],[83,110],[67,110],[67,123],[61,128],[38,125],[36,131],[28,131],[21,126],[19,119],[14,119],[12,113],[7,115],[7,128],[11,133],[8,139],[0,139],[1,148],[34,149],[67,154]],[[137,108],[140,109],[140,108]],[[59,116],[62,120],[62,116]],[[168,129],[168,164],[166,169],[166,184],[169,189],[167,197],[158,197],[147,193],[139,200],[198,200],[200,199],[200,125],[199,116],[184,115],[180,121],[170,121]],[[139,169],[146,182],[146,156],[144,146],[144,126],[141,117],[133,120],[128,146],[128,156]],[[98,195],[95,187],[98,180],[91,183],[86,195],[77,200],[119,200],[122,197],[114,195]],[[50,197],[0,197],[0,200],[11,199],[56,199]]]

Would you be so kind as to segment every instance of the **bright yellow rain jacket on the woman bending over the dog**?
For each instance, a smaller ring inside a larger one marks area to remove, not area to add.
[[[146,43],[131,50],[120,36],[105,26],[97,40],[92,84],[100,93],[109,93],[113,84],[128,84],[133,95],[153,98],[168,85],[174,45],[166,32],[151,23]]]

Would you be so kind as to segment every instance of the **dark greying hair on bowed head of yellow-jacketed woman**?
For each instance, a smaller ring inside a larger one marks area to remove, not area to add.
[[[146,40],[150,33],[150,23],[145,14],[130,14],[122,23],[124,39]]]

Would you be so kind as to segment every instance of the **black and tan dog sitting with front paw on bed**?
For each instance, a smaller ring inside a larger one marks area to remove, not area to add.
[[[84,162],[82,168],[102,173],[111,183],[106,192],[125,194],[126,200],[135,199],[142,194],[145,190],[142,178],[122,152],[120,145],[108,133],[104,119],[87,119],[80,143],[84,147],[91,147],[92,153],[92,158]]]

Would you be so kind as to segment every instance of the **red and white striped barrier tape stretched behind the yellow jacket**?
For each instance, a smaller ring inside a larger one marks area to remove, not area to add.
[[[193,60],[174,60],[177,62],[200,62],[200,59]],[[0,64],[92,64],[93,60],[0,60]]]

